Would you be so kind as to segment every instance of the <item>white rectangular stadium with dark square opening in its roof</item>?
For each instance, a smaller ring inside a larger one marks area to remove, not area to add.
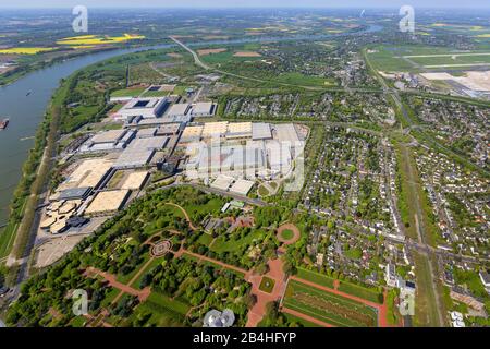
[[[143,119],[159,118],[169,107],[167,98],[133,98],[123,106],[114,118],[118,120],[127,120],[131,117],[142,117]]]

